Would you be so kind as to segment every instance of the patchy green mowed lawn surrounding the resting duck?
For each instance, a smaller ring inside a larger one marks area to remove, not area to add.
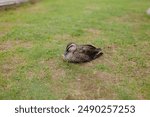
[[[150,99],[150,0],[41,0],[0,11],[0,99]],[[104,55],[62,60],[69,42]]]

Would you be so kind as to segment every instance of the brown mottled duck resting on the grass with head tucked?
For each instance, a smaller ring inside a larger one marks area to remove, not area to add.
[[[71,63],[83,63],[92,61],[103,54],[101,48],[93,45],[78,45],[74,42],[67,44],[63,60]]]

